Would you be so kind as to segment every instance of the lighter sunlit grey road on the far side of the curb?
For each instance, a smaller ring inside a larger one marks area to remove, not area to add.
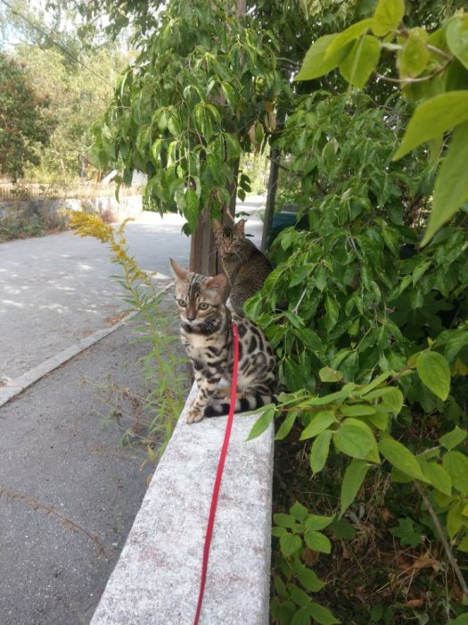
[[[246,204],[245,210],[253,212],[248,231],[259,244],[258,207]],[[169,256],[186,265],[184,221],[144,212],[127,224],[129,253],[144,270],[165,275]],[[118,272],[107,246],[72,232],[1,244],[0,388],[118,321],[126,307],[119,284],[110,279]]]

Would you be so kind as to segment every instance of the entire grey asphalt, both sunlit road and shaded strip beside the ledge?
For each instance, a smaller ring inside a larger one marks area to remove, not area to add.
[[[130,254],[161,274],[169,255],[186,264],[182,223],[144,213],[127,224]],[[254,216],[248,231],[259,243]],[[70,232],[1,244],[0,387],[113,326],[126,306],[115,273],[105,246]],[[1,625],[88,623],[117,561],[152,471],[104,418],[116,407],[123,426],[134,418],[112,389],[144,393],[135,322],[0,407]]]

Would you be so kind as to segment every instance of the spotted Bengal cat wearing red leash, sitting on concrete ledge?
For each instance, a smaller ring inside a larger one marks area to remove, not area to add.
[[[239,336],[239,366],[235,412],[255,410],[276,403],[276,360],[261,329],[227,308],[227,278],[212,278],[186,270],[169,259],[176,277],[176,302],[181,318],[180,337],[192,365],[198,395],[187,414],[187,423],[203,417],[227,414],[234,368],[235,321]],[[224,400],[224,401],[223,401]]]

